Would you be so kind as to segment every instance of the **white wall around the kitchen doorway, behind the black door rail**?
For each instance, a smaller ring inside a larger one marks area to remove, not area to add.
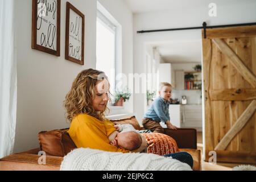
[[[134,14],[134,72],[145,73],[144,44],[154,42],[170,42],[172,40],[201,40],[201,30],[166,31],[137,34],[140,30],[154,30],[163,28],[197,27],[203,22],[209,26],[219,24],[255,22],[256,2],[240,5],[222,6],[217,4],[217,17],[209,17],[208,6],[190,7],[171,11]],[[134,110],[137,119],[142,121],[146,96],[142,93],[134,96]]]

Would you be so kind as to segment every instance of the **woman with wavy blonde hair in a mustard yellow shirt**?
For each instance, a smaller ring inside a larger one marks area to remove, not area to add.
[[[108,137],[116,128],[104,115],[109,100],[109,82],[104,72],[86,69],[77,75],[64,101],[67,119],[71,122],[68,133],[77,147],[130,152],[110,144]],[[136,152],[146,147],[143,139]]]

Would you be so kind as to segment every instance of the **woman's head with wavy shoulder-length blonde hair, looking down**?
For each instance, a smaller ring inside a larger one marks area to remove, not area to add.
[[[96,69],[81,71],[65,97],[67,119],[72,121],[77,114],[83,113],[102,120],[104,111],[108,110],[109,94],[109,81],[104,72]]]

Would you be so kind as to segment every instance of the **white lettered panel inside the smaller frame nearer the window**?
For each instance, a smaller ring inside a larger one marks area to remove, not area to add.
[[[69,13],[69,56],[82,60],[82,17],[70,10]]]

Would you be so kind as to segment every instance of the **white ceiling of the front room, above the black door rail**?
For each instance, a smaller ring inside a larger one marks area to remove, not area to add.
[[[133,13],[146,13],[150,11],[188,9],[195,7],[208,7],[209,3],[232,6],[234,4],[250,3],[255,0],[123,0]]]

